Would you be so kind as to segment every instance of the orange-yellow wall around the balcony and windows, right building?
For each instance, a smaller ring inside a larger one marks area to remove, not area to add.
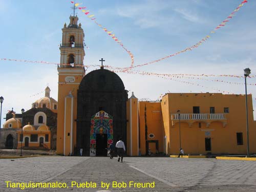
[[[166,100],[168,98],[168,100]],[[211,138],[212,154],[246,154],[246,115],[245,115],[245,96],[244,95],[223,95],[220,93],[171,93],[165,95],[163,102],[168,102],[169,107],[164,107],[163,114],[167,117],[169,114],[177,114],[180,110],[181,114],[192,114],[193,106],[200,106],[201,114],[209,114],[210,106],[215,107],[215,113],[224,113],[224,107],[229,108],[226,115],[226,125],[223,127],[223,121],[213,121],[207,127],[207,120],[195,120],[190,126],[187,120],[181,122],[181,146],[185,154],[206,154],[205,137]],[[169,115],[170,117],[170,115]],[[252,98],[248,95],[248,118],[249,118],[249,141],[250,153],[256,153],[256,131],[252,113]],[[169,119],[171,122],[172,119]],[[199,128],[201,122],[201,128]],[[167,118],[164,120],[168,125]],[[179,153],[179,123],[176,121],[174,126],[170,124],[169,129],[169,153]],[[166,130],[166,127],[165,127]],[[210,132],[210,136],[205,136],[205,132]],[[243,133],[243,145],[237,145],[237,133]]]

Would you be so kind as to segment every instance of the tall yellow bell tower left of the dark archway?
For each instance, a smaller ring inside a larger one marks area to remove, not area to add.
[[[74,154],[76,143],[77,90],[85,75],[83,68],[84,33],[78,17],[70,16],[62,29],[58,66],[57,154]]]

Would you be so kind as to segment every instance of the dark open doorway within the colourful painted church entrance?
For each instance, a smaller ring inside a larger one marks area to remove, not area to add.
[[[107,156],[108,155],[108,137],[106,134],[96,135],[96,156]]]

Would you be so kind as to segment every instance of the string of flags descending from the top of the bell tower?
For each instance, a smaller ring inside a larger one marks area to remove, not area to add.
[[[72,4],[74,4],[75,2],[71,1]],[[134,55],[132,54],[131,51],[127,50],[123,43],[121,42],[121,40],[118,39],[118,37],[110,30],[106,29],[105,27],[103,27],[102,25],[100,25],[99,23],[96,22],[96,18],[94,14],[90,14],[90,10],[84,10],[86,9],[86,7],[78,7],[79,5],[81,5],[80,3],[76,3],[75,6],[81,10],[84,14],[86,14],[91,20],[94,21],[94,23],[99,26],[101,29],[103,29],[103,31],[105,31],[114,41],[117,42],[117,44],[119,44],[131,57],[131,68],[134,66]]]

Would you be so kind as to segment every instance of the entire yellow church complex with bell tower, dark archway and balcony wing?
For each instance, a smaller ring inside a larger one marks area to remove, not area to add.
[[[106,156],[122,137],[130,156],[246,154],[244,95],[168,93],[161,101],[138,101],[120,77],[105,70],[85,74],[84,33],[78,17],[62,29],[58,66],[57,153]],[[100,60],[103,62],[103,59]],[[256,153],[256,123],[248,96],[249,149]]]

